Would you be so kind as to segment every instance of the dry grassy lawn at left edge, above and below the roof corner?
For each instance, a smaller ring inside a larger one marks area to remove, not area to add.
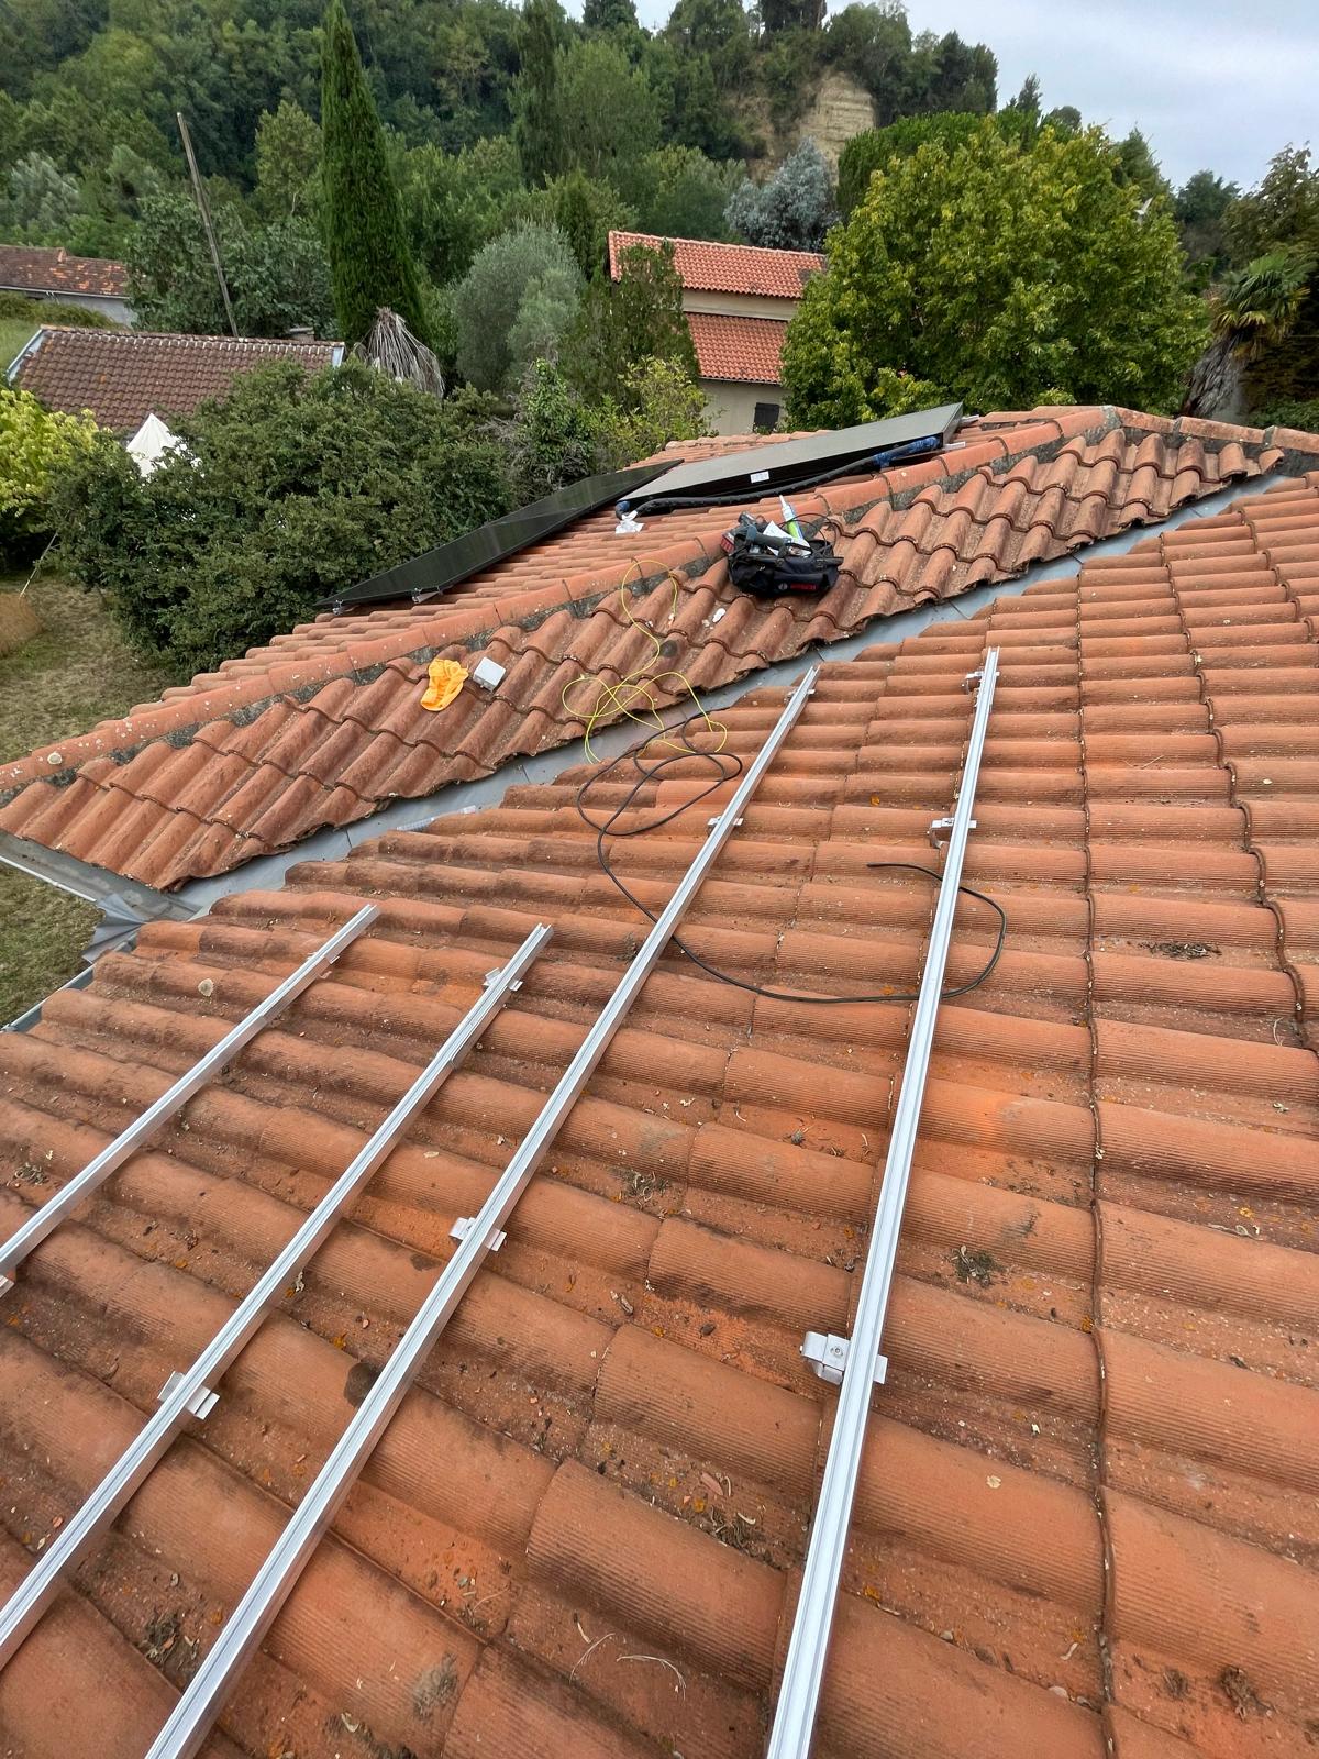
[[[21,584],[0,579],[0,591]],[[0,654],[0,762],[84,734],[172,682],[134,656],[95,595],[39,577],[28,596],[42,630]],[[0,1025],[77,971],[95,922],[93,906],[0,867]]]

